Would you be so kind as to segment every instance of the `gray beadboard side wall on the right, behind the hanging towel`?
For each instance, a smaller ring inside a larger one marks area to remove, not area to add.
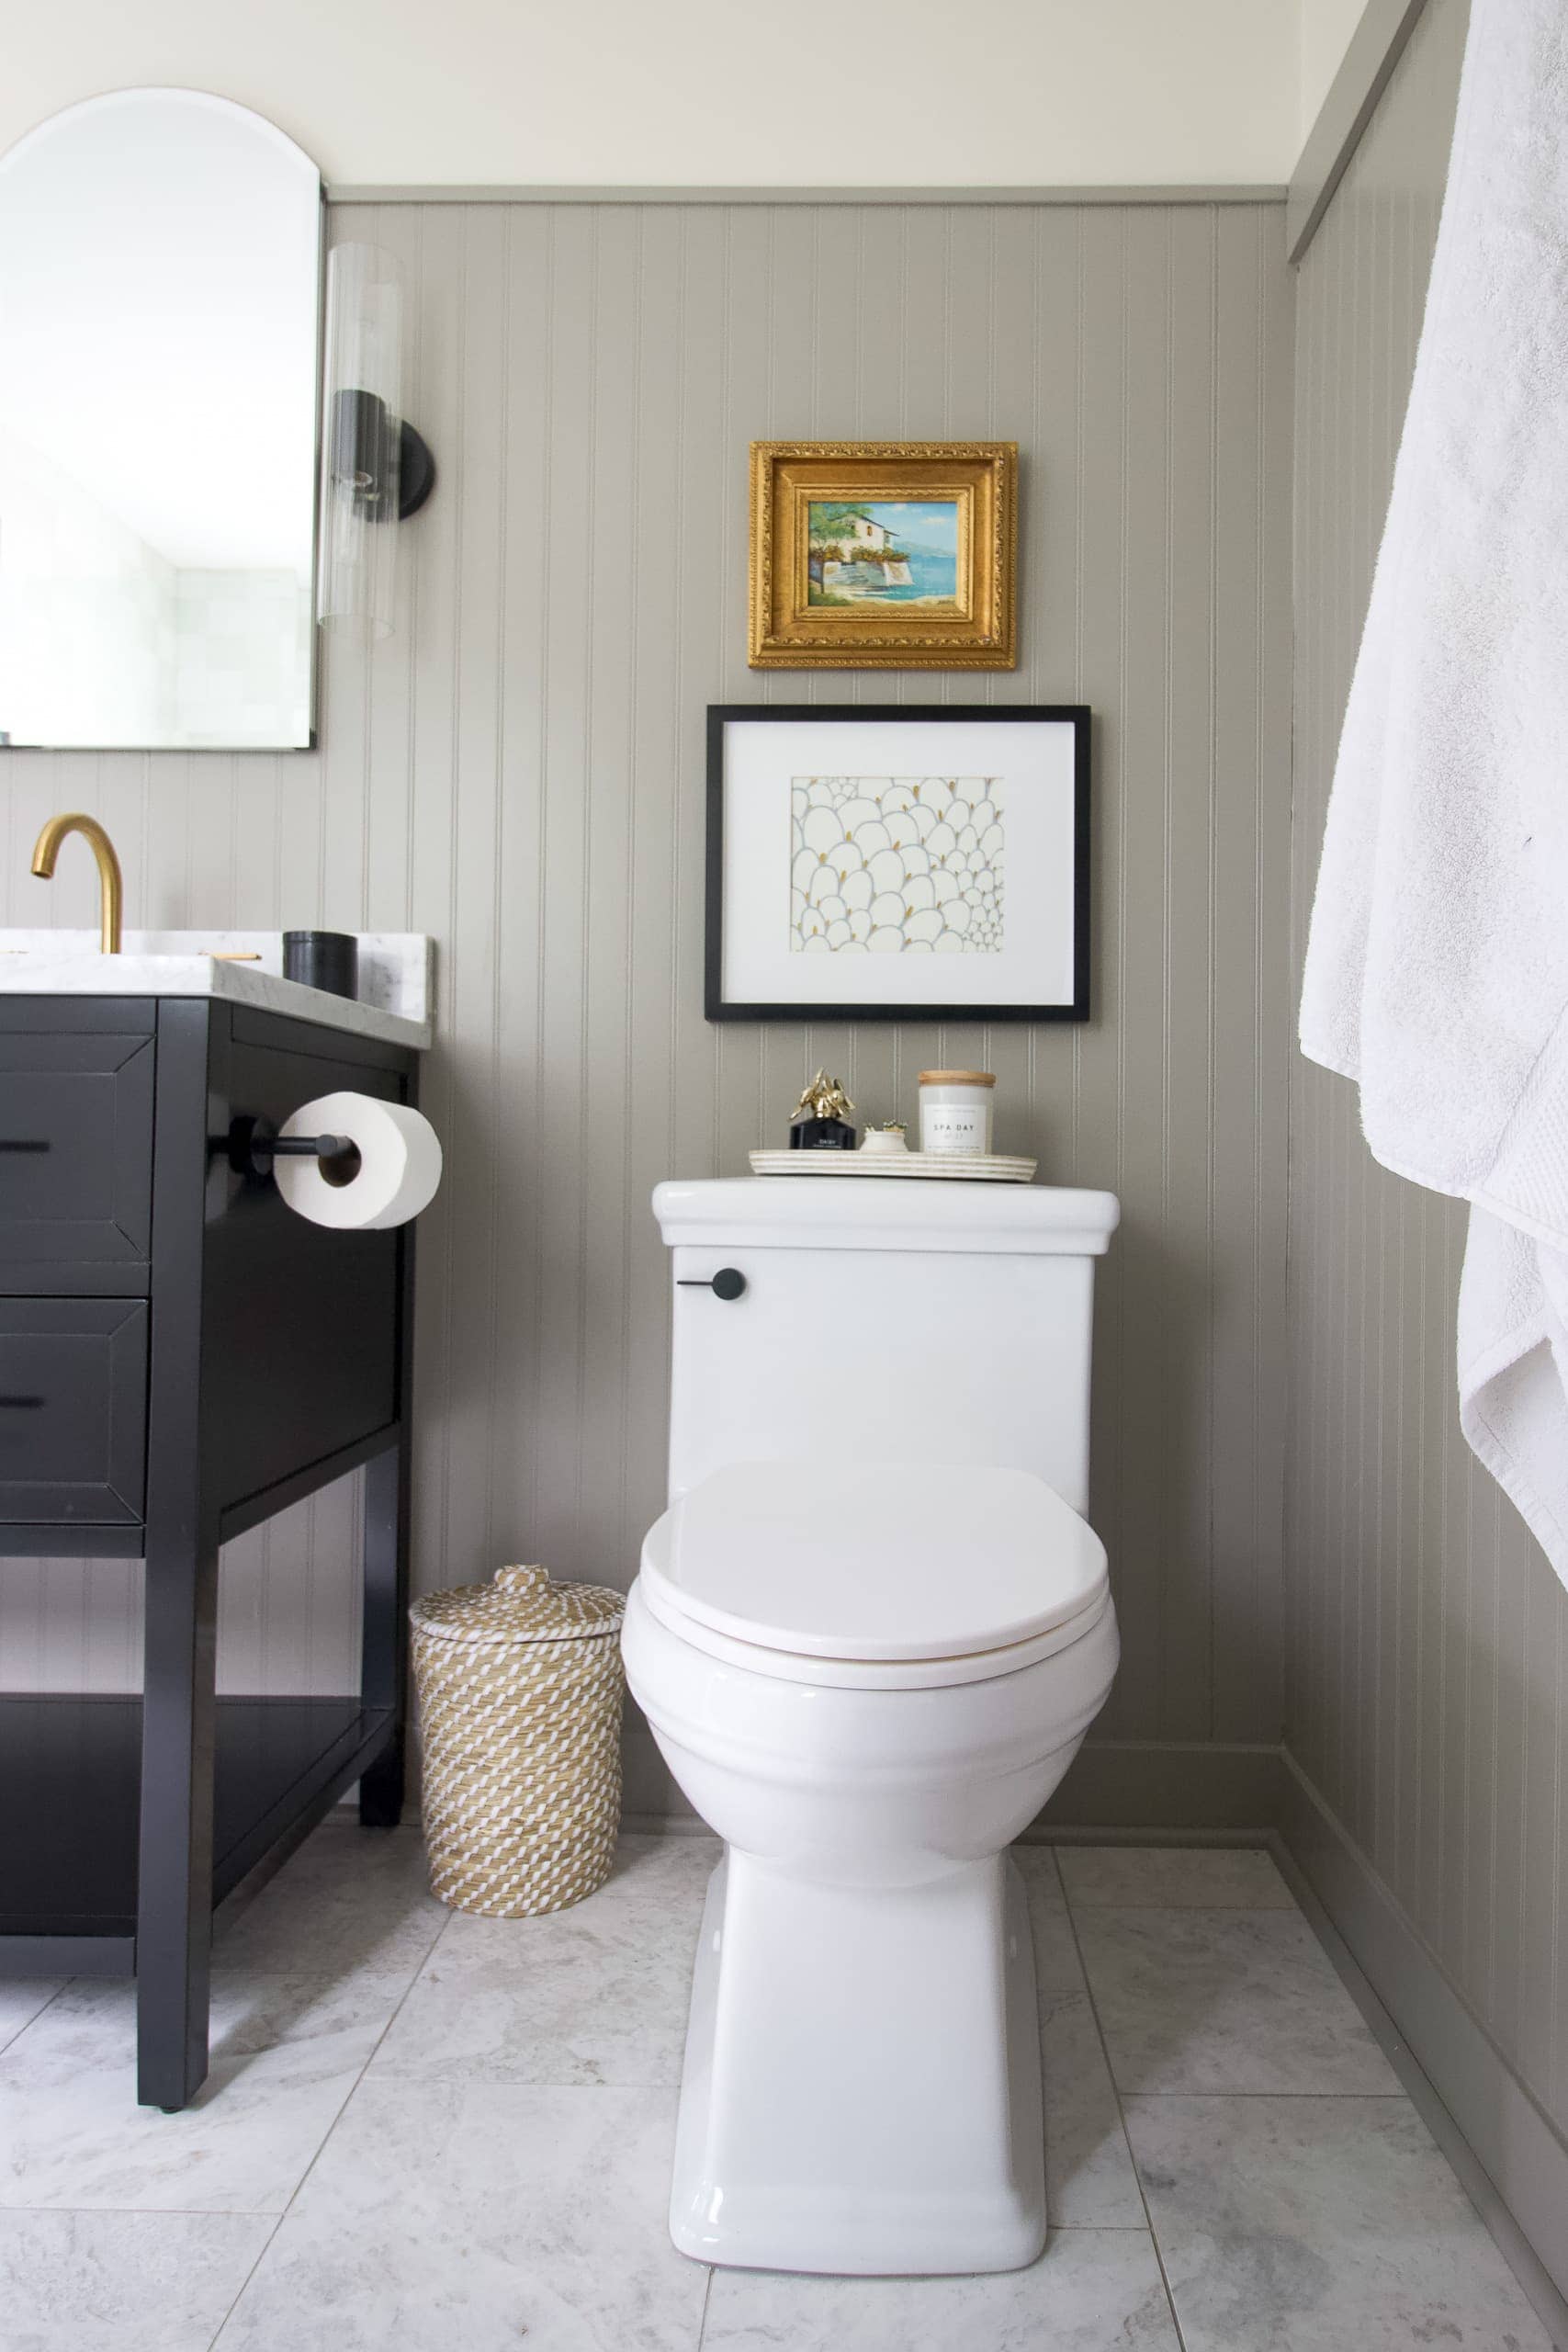
[[[1467,0],[1429,0],[1300,270],[1298,957],[1415,362],[1465,21]],[[1415,1971],[1436,1962],[1561,2131],[1568,1595],[1460,1437],[1465,1209],[1371,1160],[1352,1087],[1300,1056],[1293,1070],[1286,1745],[1309,1783],[1305,1835],[1319,1849],[1349,1842],[1340,1884],[1371,1870],[1356,1900],[1382,1882],[1387,1933],[1413,1931],[1403,1973],[1380,1985],[1396,2018]],[[1349,1919],[1347,1933],[1354,1947]],[[1441,2058],[1439,2037],[1422,2063]],[[1453,2103],[1481,2145],[1483,2126],[1462,2096]],[[1561,2258],[1561,2216],[1554,2239]]]

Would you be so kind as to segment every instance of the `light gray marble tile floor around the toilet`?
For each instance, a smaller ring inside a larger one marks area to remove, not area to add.
[[[127,1985],[0,1987],[2,2352],[1549,2352],[1262,1851],[1023,1846],[1051,2241],[992,2279],[712,2272],[665,2237],[708,1837],[550,1919],[329,1823],[134,2103]]]

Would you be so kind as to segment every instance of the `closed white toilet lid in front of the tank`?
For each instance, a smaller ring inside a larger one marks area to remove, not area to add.
[[[1095,1604],[1105,1545],[1027,1470],[729,1463],[656,1519],[642,1573],[759,1649],[966,1658]]]

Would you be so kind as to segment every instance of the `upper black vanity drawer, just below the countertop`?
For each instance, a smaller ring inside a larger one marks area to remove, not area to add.
[[[26,1007],[28,1028],[14,1025],[19,1007]],[[59,997],[14,997],[5,1014],[0,1270],[146,1265],[153,1237],[148,1009],[129,1002],[125,1014],[113,1007],[78,1011]]]

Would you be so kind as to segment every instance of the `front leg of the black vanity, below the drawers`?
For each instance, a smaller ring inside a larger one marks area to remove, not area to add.
[[[207,2079],[216,1602],[216,1543],[148,1536],[136,2096],[167,2114]]]

